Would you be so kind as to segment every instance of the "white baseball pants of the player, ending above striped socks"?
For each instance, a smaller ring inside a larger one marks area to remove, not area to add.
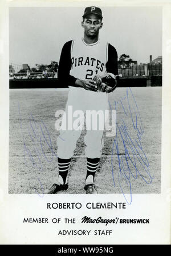
[[[103,111],[103,129],[99,126],[99,119],[97,118],[97,130],[87,130],[87,134],[84,137],[86,143],[86,157],[88,158],[100,158],[101,150],[104,146],[104,123],[107,119],[104,111],[108,110],[108,95],[106,93],[96,93],[94,91],[88,91],[82,88],[70,87],[68,92],[68,101],[66,104],[66,117],[63,116],[62,125],[67,120],[68,125],[68,106],[72,106],[72,111],[82,110],[84,112],[84,118],[87,118],[87,110]],[[78,117],[73,117],[73,122]],[[80,127],[84,127],[84,119],[82,119]],[[99,129],[100,128],[100,129]],[[82,129],[79,130],[60,130],[60,135],[57,139],[58,157],[63,159],[71,158],[74,154],[76,142],[78,141]]]

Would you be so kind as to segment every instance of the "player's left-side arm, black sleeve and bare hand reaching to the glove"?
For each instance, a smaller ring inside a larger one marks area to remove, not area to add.
[[[59,67],[58,67],[58,79],[59,79],[60,85],[83,87],[86,90],[97,91],[94,86],[95,84],[94,81],[90,79],[80,80],[70,75],[70,70],[72,67],[71,45],[72,45],[72,40],[65,43],[60,54]]]

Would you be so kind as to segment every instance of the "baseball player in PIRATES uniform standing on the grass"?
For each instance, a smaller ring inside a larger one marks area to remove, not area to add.
[[[68,86],[68,106],[72,111],[108,110],[108,93],[117,85],[117,52],[108,42],[99,38],[103,27],[99,7],[86,7],[83,14],[83,37],[66,42],[60,55],[58,79],[62,86]],[[85,114],[86,115],[86,114]],[[67,119],[67,118],[66,118]],[[64,119],[62,120],[62,124]],[[83,127],[84,121],[80,124]],[[76,142],[82,129],[60,130],[57,139],[59,175],[56,183],[46,191],[55,194],[68,189],[68,168],[74,154]],[[103,130],[87,130],[86,143],[87,174],[84,189],[87,194],[96,194],[95,173],[103,148]]]

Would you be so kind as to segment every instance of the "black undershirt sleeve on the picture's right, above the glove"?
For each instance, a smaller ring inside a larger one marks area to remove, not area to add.
[[[108,45],[108,61],[106,63],[107,73],[112,73],[114,75],[118,75],[117,69],[117,51],[115,47],[113,47],[110,43]],[[117,81],[119,77],[116,77]]]

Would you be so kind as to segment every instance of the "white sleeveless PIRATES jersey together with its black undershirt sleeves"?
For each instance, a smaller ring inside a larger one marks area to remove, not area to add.
[[[76,79],[92,79],[105,72],[118,75],[117,51],[110,43],[99,39],[87,45],[83,38],[76,38],[64,44],[58,69],[60,86],[77,87]]]

